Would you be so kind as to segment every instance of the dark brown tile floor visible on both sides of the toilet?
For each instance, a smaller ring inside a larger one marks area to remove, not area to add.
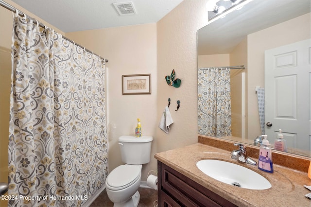
[[[140,201],[138,207],[154,207],[154,202],[157,200],[157,190],[149,188],[139,188]],[[155,202],[155,206],[157,202]],[[109,200],[106,190],[95,199],[90,207],[112,207],[113,203]]]

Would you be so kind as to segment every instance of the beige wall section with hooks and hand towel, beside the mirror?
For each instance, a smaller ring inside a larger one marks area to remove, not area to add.
[[[184,0],[157,22],[157,122],[171,98],[173,125],[169,134],[156,126],[158,152],[197,142],[196,32],[207,24],[205,0]],[[181,86],[168,86],[164,76],[175,69]],[[180,108],[176,109],[176,101]],[[190,155],[191,156],[191,155]]]

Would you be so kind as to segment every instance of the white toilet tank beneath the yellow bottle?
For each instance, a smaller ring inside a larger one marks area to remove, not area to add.
[[[130,165],[141,165],[150,161],[152,136],[125,135],[119,137],[122,161]]]

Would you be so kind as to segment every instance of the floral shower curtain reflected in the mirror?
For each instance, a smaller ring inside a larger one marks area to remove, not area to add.
[[[230,69],[198,69],[198,132],[231,135]]]

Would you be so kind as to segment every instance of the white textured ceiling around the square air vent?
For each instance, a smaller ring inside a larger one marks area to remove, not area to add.
[[[183,0],[12,0],[61,31],[155,23]],[[120,16],[113,3],[134,4],[136,15]],[[27,14],[29,15],[29,14]]]

